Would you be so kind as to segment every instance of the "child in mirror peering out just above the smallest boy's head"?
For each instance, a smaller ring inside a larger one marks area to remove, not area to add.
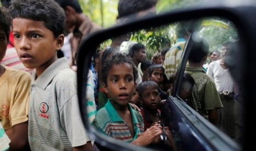
[[[162,65],[152,65],[149,67],[148,80],[152,80],[160,86],[164,81],[165,68]],[[165,91],[159,88],[160,96],[162,100],[166,100],[168,95]]]

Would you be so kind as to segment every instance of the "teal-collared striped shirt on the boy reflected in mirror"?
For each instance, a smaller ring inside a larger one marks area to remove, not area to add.
[[[108,99],[106,105],[97,112],[94,125],[100,132],[130,143],[144,132],[144,124],[141,114],[134,111],[130,104],[128,104],[128,108],[132,115],[134,137],[132,137],[127,123],[123,121],[110,103],[110,99]]]

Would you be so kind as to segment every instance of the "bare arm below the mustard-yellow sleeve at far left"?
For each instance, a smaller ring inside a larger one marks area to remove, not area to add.
[[[10,139],[9,150],[24,150],[29,143],[28,121],[14,125],[12,129],[6,130],[6,135]]]

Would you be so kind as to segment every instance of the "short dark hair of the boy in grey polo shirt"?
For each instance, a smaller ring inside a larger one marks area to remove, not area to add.
[[[63,34],[65,13],[58,3],[52,0],[13,0],[9,7],[12,19],[23,18],[43,21],[55,38]]]

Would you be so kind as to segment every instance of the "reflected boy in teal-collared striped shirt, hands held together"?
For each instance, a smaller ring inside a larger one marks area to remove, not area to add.
[[[132,60],[125,54],[116,53],[106,59],[102,80],[110,98],[97,112],[94,125],[105,135],[138,146],[148,146],[159,141],[162,130],[155,124],[144,132],[140,113],[129,104],[136,88],[137,73]]]

